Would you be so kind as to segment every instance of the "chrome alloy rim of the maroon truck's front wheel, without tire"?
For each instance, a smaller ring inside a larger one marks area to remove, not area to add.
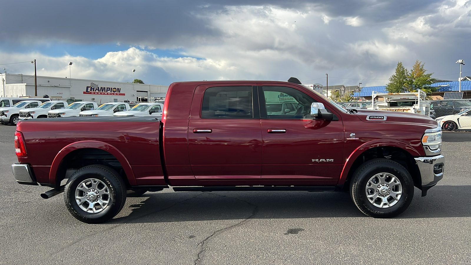
[[[366,198],[378,208],[389,208],[398,203],[402,195],[402,184],[390,173],[379,173],[366,183]]]

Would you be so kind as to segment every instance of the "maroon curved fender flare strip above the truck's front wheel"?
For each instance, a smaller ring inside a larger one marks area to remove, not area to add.
[[[349,155],[347,158],[346,163],[343,165],[342,172],[340,174],[340,179],[339,182],[337,183],[338,185],[343,185],[345,181],[347,180],[347,176],[349,174],[350,168],[353,165],[353,162],[366,150],[374,148],[374,147],[380,147],[380,146],[390,146],[390,147],[397,147],[403,150],[406,150],[409,154],[412,156],[418,157],[422,156],[419,152],[417,152],[416,149],[414,149],[411,145],[399,141],[399,140],[393,140],[393,139],[378,139],[374,141],[368,141],[365,142],[364,144],[360,145],[357,147],[357,149],[353,150],[353,152]]]

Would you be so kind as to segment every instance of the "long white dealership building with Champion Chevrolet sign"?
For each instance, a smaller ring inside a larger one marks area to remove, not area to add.
[[[164,98],[169,86],[61,78],[52,76],[0,74],[0,97],[38,96],[67,101],[147,102]]]

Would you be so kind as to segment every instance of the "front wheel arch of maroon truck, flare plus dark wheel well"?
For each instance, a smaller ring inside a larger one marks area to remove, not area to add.
[[[391,143],[382,141],[382,144],[379,142],[364,144],[355,149],[348,157],[338,184],[342,190],[346,190],[353,174],[360,165],[374,158],[387,158],[404,166],[412,176],[414,186],[422,189],[421,174],[414,160],[414,157],[417,156],[422,156],[422,154],[404,142],[395,141]]]

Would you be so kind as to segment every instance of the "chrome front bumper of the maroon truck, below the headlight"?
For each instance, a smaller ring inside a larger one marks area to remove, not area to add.
[[[437,155],[434,157],[415,157],[415,162],[419,167],[422,177],[422,197],[427,194],[427,190],[435,186],[443,178],[445,170],[445,157]],[[425,195],[424,195],[425,194]]]

